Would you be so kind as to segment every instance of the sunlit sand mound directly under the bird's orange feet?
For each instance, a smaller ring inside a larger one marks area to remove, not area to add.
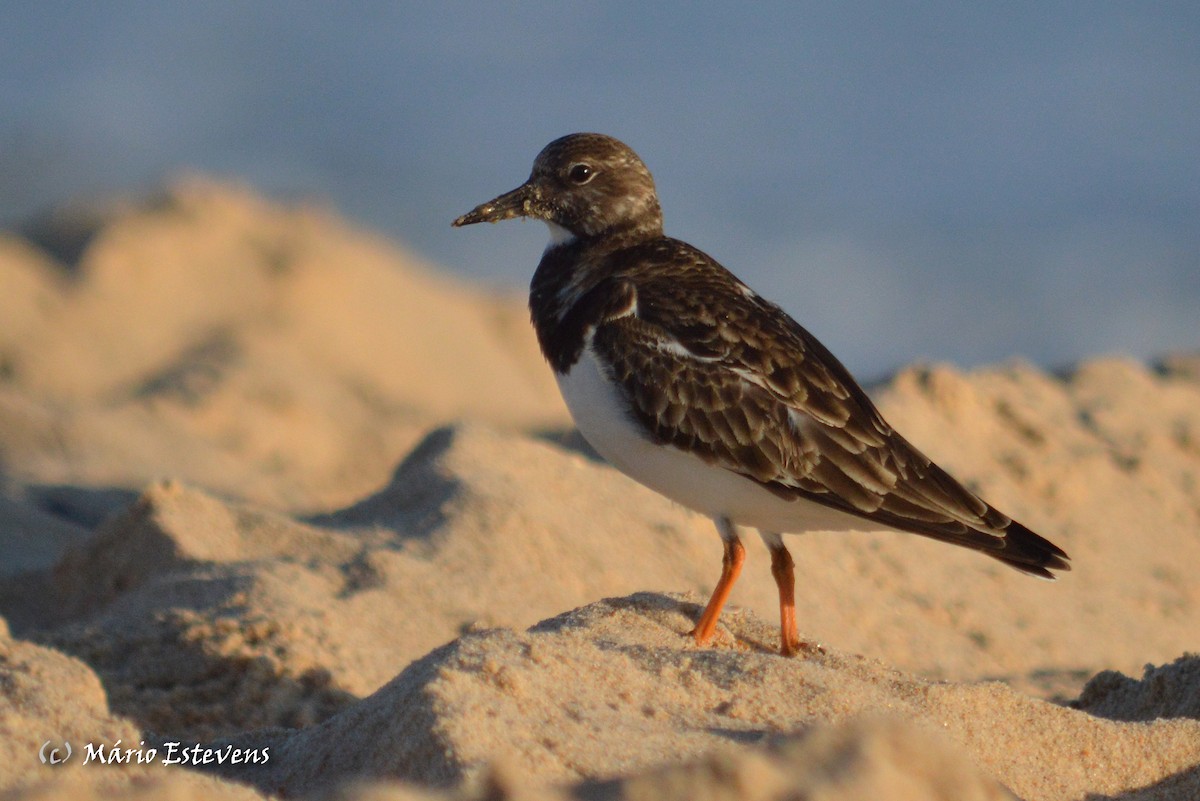
[[[1025,799],[1115,795],[1200,763],[1200,721],[1116,723],[833,650],[787,660],[749,614],[724,648],[698,650],[686,637],[697,612],[647,594],[466,637],[320,725],[251,737],[278,754],[253,781],[284,793],[361,775],[444,784],[496,759],[546,781],[606,778],[884,710],[944,733]]]

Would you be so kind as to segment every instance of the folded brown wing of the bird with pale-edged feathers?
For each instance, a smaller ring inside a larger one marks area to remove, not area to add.
[[[656,441],[785,498],[1007,548],[1008,517],[900,436],[812,335],[716,266],[706,291],[695,275],[613,278],[630,300],[595,325],[594,353]]]

